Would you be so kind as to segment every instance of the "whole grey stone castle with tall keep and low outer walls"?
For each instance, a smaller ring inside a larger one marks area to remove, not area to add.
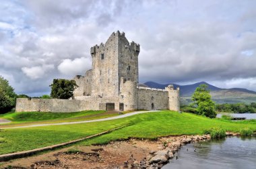
[[[78,87],[72,99],[17,99],[16,111],[179,111],[179,88],[139,87],[139,51],[139,44],[129,43],[125,33],[113,32],[105,44],[90,49],[92,69],[75,76]]]

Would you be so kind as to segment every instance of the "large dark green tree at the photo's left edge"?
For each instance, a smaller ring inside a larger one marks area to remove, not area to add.
[[[16,97],[8,80],[0,76],[0,113],[10,111],[15,106]]]

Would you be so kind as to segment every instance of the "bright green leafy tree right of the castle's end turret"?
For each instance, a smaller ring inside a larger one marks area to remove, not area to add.
[[[214,111],[215,103],[212,101],[210,91],[207,90],[206,84],[201,84],[195,93],[193,93],[191,100],[192,105],[197,107],[197,113],[199,115],[205,115],[206,117],[215,118],[216,112]]]

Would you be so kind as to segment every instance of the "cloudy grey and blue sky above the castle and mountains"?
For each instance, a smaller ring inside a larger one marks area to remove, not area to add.
[[[0,75],[18,94],[91,67],[112,32],[141,45],[139,81],[256,91],[256,1],[1,0]]]

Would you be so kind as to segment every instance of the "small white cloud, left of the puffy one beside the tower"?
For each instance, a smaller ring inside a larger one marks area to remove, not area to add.
[[[42,66],[33,66],[33,67],[23,67],[22,72],[26,74],[31,79],[44,78],[44,74],[49,70],[53,70],[54,65],[42,65]]]

